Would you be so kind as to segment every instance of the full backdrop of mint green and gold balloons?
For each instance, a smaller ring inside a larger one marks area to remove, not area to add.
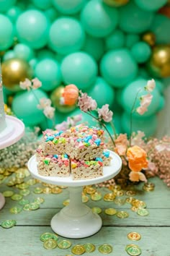
[[[133,129],[156,131],[170,77],[169,1],[3,0],[0,24],[4,98],[26,125],[52,127],[37,109],[44,97],[55,107],[56,123],[81,113],[83,121],[97,125],[76,106],[61,104],[65,85],[75,84],[98,108],[109,104],[118,133],[130,133],[133,103],[138,94],[138,107],[145,95],[138,90],[153,78],[151,105],[143,116],[134,111]],[[40,89],[19,92],[20,81],[35,77]]]

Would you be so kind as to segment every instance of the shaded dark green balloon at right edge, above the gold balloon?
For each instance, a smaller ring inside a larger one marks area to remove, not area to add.
[[[170,42],[170,19],[163,14],[156,14],[151,24],[150,30],[156,35],[156,43]]]

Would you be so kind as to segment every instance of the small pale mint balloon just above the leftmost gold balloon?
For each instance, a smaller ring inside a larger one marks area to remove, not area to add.
[[[32,48],[24,43],[17,43],[14,46],[14,54],[17,58],[24,59],[25,61],[30,61],[35,55]]]

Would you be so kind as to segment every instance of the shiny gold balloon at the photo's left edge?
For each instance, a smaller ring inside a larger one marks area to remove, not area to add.
[[[4,86],[17,92],[20,90],[19,82],[31,79],[33,70],[23,59],[7,59],[1,64],[1,73]]]

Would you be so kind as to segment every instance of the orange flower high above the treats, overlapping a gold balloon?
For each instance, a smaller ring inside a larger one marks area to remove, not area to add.
[[[79,97],[79,89],[76,85],[67,85],[63,90],[62,97],[64,104],[73,106]]]

